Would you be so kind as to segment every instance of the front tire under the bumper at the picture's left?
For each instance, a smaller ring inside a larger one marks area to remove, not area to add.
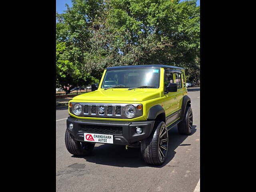
[[[95,145],[95,143],[80,142],[75,140],[68,129],[66,129],[65,144],[68,152],[75,156],[86,156],[90,154]]]

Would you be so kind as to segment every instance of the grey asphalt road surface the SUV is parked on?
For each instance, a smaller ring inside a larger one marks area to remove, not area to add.
[[[66,108],[56,110],[57,192],[194,192],[200,179],[200,88],[189,88],[192,135],[169,131],[162,166],[145,164],[140,148],[96,144],[91,156],[78,158],[66,150]],[[197,187],[198,188],[198,187]],[[196,188],[195,191],[198,191]]]

